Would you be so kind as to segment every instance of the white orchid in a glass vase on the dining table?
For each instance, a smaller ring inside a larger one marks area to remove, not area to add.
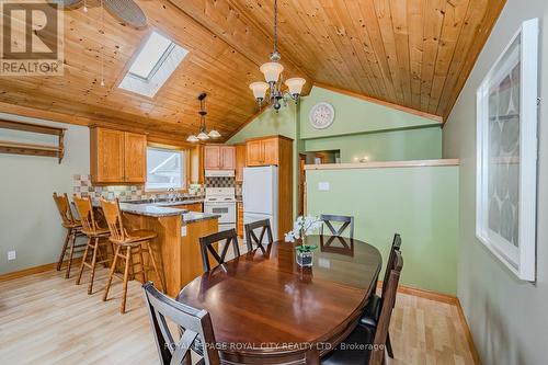
[[[299,216],[293,226],[293,230],[285,233],[286,242],[295,242],[300,239],[301,244],[297,246],[297,264],[299,266],[311,266],[313,263],[313,250],[318,247],[316,244],[307,244],[306,237],[313,233],[322,225],[319,217],[316,216]]]

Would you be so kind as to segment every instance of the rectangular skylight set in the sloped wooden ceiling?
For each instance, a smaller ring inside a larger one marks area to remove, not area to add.
[[[152,98],[187,53],[171,39],[152,32],[118,87]]]

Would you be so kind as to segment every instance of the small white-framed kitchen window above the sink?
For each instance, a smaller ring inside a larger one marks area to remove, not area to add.
[[[162,148],[147,148],[146,190],[184,189],[184,152]]]

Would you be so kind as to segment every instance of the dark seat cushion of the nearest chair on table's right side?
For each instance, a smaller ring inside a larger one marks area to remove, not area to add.
[[[321,358],[322,365],[366,365],[373,347],[375,331],[356,326],[332,352]]]

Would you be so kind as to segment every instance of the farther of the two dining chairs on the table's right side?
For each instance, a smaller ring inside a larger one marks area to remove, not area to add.
[[[373,294],[369,297],[369,301],[367,303],[367,306],[365,307],[362,318],[359,319],[359,324],[369,327],[375,329],[377,327],[377,322],[380,316],[380,307],[383,303],[383,298],[386,296],[386,290],[388,289],[388,286],[385,285],[385,283],[388,282],[389,275],[390,275],[390,270],[393,265],[393,261],[396,260],[396,252],[400,252],[401,249],[401,236],[398,233],[393,235],[392,239],[392,246],[390,248],[390,253],[388,255],[388,261],[386,263],[386,270],[385,270],[385,276],[383,278],[383,289],[380,292],[380,297],[377,294]],[[392,350],[392,343],[390,341],[390,333],[387,333],[387,340],[386,340],[386,349],[388,352],[388,356],[393,358],[393,350]]]

